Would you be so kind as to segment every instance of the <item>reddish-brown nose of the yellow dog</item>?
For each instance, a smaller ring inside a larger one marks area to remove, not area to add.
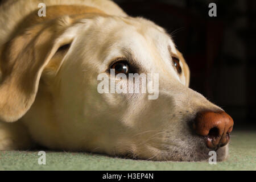
[[[232,117],[224,111],[203,111],[197,113],[193,127],[198,135],[205,138],[208,148],[217,150],[229,142],[233,124]]]

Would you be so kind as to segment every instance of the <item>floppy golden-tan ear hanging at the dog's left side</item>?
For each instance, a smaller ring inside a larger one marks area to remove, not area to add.
[[[14,36],[0,52],[0,120],[14,122],[33,104],[40,76],[57,49],[72,42],[75,32],[64,16]]]

